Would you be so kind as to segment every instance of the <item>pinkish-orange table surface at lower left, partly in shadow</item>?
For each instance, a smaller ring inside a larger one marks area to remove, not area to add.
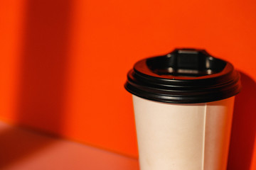
[[[0,169],[139,170],[137,159],[0,121]]]

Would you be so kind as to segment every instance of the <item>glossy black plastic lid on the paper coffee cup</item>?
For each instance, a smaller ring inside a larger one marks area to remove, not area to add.
[[[232,64],[196,49],[140,60],[127,77],[124,87],[131,94],[165,103],[218,101],[241,89],[240,74]]]

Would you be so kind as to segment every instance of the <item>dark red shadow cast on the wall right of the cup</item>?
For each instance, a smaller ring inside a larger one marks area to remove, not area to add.
[[[256,83],[240,72],[242,91],[235,98],[228,170],[250,170],[256,133]]]

